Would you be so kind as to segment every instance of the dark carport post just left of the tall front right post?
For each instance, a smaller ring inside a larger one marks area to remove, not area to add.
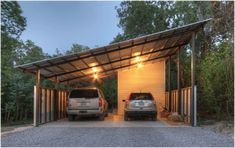
[[[177,51],[177,88],[178,88],[178,113],[181,113],[181,85],[180,85],[180,47]]]

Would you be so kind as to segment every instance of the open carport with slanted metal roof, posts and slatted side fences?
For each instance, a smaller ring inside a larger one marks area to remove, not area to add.
[[[164,63],[168,67],[167,78],[157,78],[165,89],[165,79],[168,79],[168,91],[163,90],[159,101],[171,112],[181,114],[186,123],[196,126],[196,86],[195,86],[195,38],[197,32],[203,29],[209,21],[199,21],[182,27],[157,32],[119,43],[91,49],[85,52],[45,59],[16,66],[23,72],[36,75],[37,84],[34,87],[34,125],[58,120],[66,117],[67,90],[40,87],[41,78],[79,87],[92,85],[95,81],[102,82],[109,76],[125,79],[123,71]],[[180,86],[180,50],[191,43],[191,87]],[[171,90],[171,57],[177,56],[177,89]],[[166,64],[167,63],[167,64]],[[151,69],[148,69],[151,70]],[[154,77],[154,73],[152,75]],[[141,78],[142,79],[142,78]],[[144,79],[144,78],[143,78]],[[120,82],[121,83],[121,82]],[[119,85],[119,83],[118,83]],[[121,87],[121,85],[120,85]],[[118,91],[122,88],[118,86]],[[154,87],[151,87],[154,89]],[[120,100],[118,97],[118,108]]]

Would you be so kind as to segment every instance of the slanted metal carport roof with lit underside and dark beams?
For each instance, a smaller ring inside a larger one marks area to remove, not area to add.
[[[176,53],[179,47],[188,44],[192,33],[198,32],[210,19],[161,31],[85,52],[59,56],[16,66],[24,72],[36,74],[59,82],[87,82],[93,79],[94,71],[103,78],[118,70],[136,66],[137,63],[154,62]],[[137,59],[138,57],[138,59]]]

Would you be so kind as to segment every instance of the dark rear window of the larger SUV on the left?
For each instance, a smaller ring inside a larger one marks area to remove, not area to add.
[[[69,97],[70,98],[97,98],[98,91],[96,89],[72,90]]]

